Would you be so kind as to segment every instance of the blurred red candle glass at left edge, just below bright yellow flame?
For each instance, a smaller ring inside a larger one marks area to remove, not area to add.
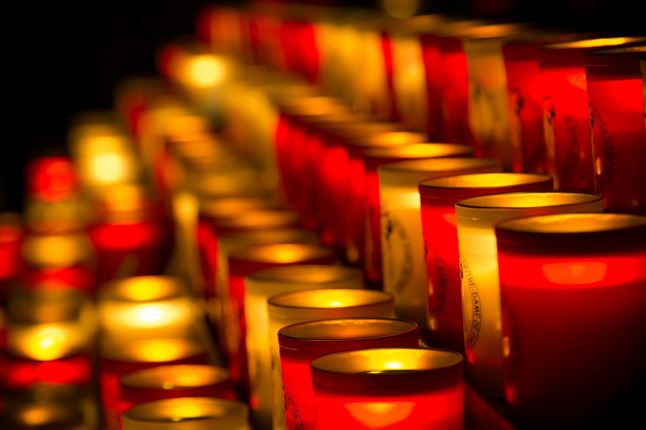
[[[75,354],[56,360],[30,360],[6,354],[3,357],[3,387],[17,391],[39,382],[90,385],[92,359],[89,354]]]

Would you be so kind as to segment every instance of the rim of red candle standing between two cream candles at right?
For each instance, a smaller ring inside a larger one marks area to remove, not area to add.
[[[509,179],[509,181],[506,180],[507,178]],[[512,179],[514,178],[516,178],[517,180],[512,181]],[[536,180],[531,180],[532,178]],[[482,179],[483,183],[482,185],[476,185],[475,183],[464,183],[464,185],[461,185],[459,183],[460,180],[466,180],[468,182],[469,179]],[[488,183],[486,182],[487,179],[492,179],[492,180],[500,179],[500,180],[498,182]],[[523,179],[526,179],[526,181],[524,181]],[[511,188],[511,187],[516,187],[517,185],[537,183],[537,182],[544,183],[550,180],[553,180],[551,175],[539,174],[539,173],[516,173],[516,172],[470,173],[470,174],[443,176],[442,178],[424,179],[424,181],[421,181],[419,183],[419,187],[420,189],[428,189],[428,190],[453,189],[453,188],[455,189],[471,189],[471,188],[500,189],[505,187]]]

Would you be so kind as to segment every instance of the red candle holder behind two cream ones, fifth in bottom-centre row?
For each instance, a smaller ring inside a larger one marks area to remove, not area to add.
[[[331,264],[336,260],[331,249],[318,245],[282,243],[236,249],[228,256],[228,295],[224,321],[231,378],[240,398],[249,395],[246,322],[244,313],[244,277],[256,271],[282,265]]]

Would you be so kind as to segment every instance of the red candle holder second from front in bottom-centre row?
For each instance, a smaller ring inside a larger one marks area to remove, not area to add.
[[[419,328],[406,320],[350,318],[288,325],[278,331],[285,421],[288,430],[315,427],[309,363],[340,351],[417,347]]]

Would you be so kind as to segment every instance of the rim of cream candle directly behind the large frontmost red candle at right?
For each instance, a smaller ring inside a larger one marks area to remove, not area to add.
[[[487,201],[495,201],[495,199],[503,201],[516,201],[518,202],[521,197],[539,197],[539,198],[556,198],[561,196],[563,198],[579,197],[578,200],[568,201],[566,203],[551,203],[548,205],[486,205]],[[499,192],[495,194],[484,194],[482,196],[467,197],[455,201],[455,207],[460,207],[466,210],[500,210],[500,209],[526,209],[535,207],[577,207],[589,205],[603,201],[603,196],[594,192],[588,191],[516,191],[516,192]]]

